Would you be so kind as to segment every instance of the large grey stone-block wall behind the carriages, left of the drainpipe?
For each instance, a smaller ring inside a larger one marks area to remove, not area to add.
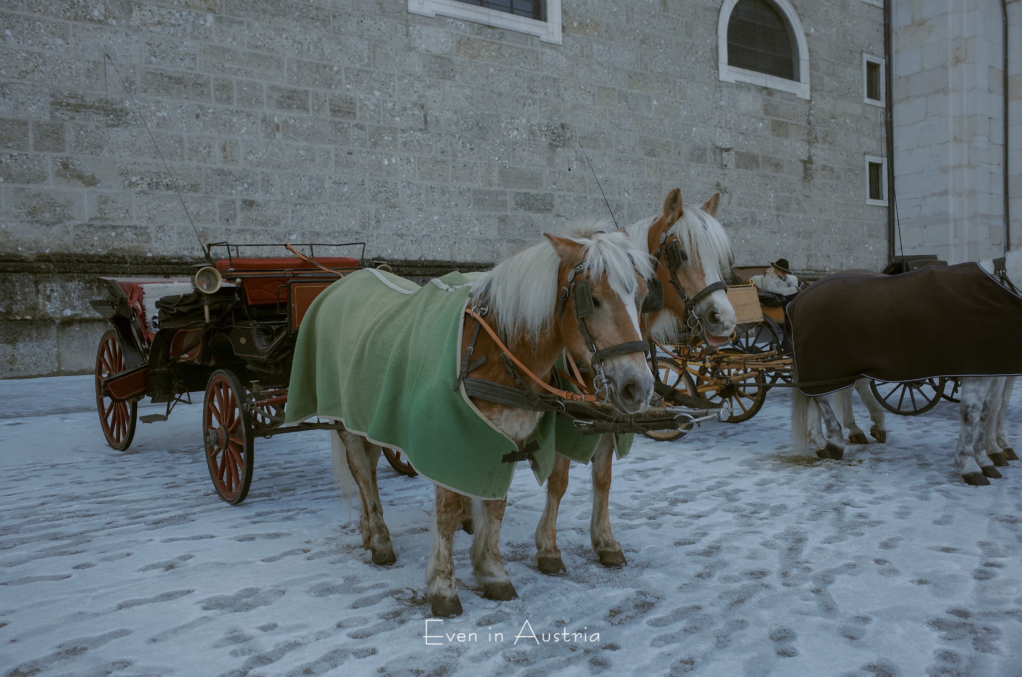
[[[717,80],[717,0],[561,4],[555,45],[405,0],[0,0],[0,375],[91,369],[93,278],[198,256],[142,117],[210,241],[492,262],[605,214],[580,141],[621,222],[719,190],[740,264],[882,266],[880,8],[794,1],[805,101]]]

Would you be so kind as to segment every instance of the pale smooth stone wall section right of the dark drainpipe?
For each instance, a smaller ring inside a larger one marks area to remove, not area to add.
[[[1011,5],[1014,15],[1022,9]],[[1003,26],[1001,0],[894,3],[896,241],[905,254],[958,263],[1005,249]],[[1016,84],[1016,118],[1018,96]],[[1014,129],[1018,155],[1018,120]]]

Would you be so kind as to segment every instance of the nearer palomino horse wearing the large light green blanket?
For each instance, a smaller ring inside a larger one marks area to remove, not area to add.
[[[621,413],[637,413],[649,406],[653,376],[641,341],[639,309],[647,290],[645,280],[653,269],[644,249],[634,246],[626,234],[607,225],[603,221],[593,225],[588,229],[591,236],[586,238],[548,234],[543,242],[506,259],[475,280],[469,307],[478,309],[480,315],[465,320],[459,352],[466,353],[470,342],[474,342],[468,352],[476,358],[469,369],[474,378],[500,385],[505,392],[523,387],[523,381],[532,392],[542,392],[541,385],[524,371],[544,376],[551,373],[566,349],[583,358],[594,373],[601,374],[609,400]],[[580,300],[583,284],[591,289],[591,304]],[[476,335],[469,338],[469,329],[481,321],[496,330],[506,347],[500,346],[489,331],[475,331]],[[524,369],[517,371],[509,366],[507,356],[516,357]],[[480,362],[481,366],[474,366]],[[475,397],[471,400],[478,412],[519,449],[543,416],[539,411]],[[375,478],[380,447],[352,432],[339,437],[341,444],[334,447],[335,472],[342,485],[349,479],[358,485],[363,546],[372,551],[375,563],[391,563],[394,553]],[[440,618],[462,611],[452,557],[454,534],[463,516],[462,502],[462,494],[435,485],[426,584],[432,615]],[[472,499],[472,569],[483,596],[490,599],[517,596],[500,553],[506,503],[506,497]]]

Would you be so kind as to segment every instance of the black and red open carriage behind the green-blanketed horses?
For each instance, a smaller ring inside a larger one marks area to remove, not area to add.
[[[91,303],[111,326],[96,354],[96,406],[110,447],[128,449],[139,419],[167,420],[178,404],[191,404],[191,394],[202,392],[210,477],[217,494],[234,504],[251,484],[254,438],[337,427],[320,421],[282,426],[290,360],[310,304],[362,267],[365,243],[285,246],[287,257],[246,258],[241,246],[217,242],[205,247],[210,265],[191,277],[100,278],[106,296]],[[334,247],[361,252],[358,258],[317,255]],[[138,416],[144,397],[166,404],[165,412]]]

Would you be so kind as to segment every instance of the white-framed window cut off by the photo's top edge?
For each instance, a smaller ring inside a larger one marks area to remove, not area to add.
[[[408,11],[475,21],[561,44],[561,0],[408,0]]]

